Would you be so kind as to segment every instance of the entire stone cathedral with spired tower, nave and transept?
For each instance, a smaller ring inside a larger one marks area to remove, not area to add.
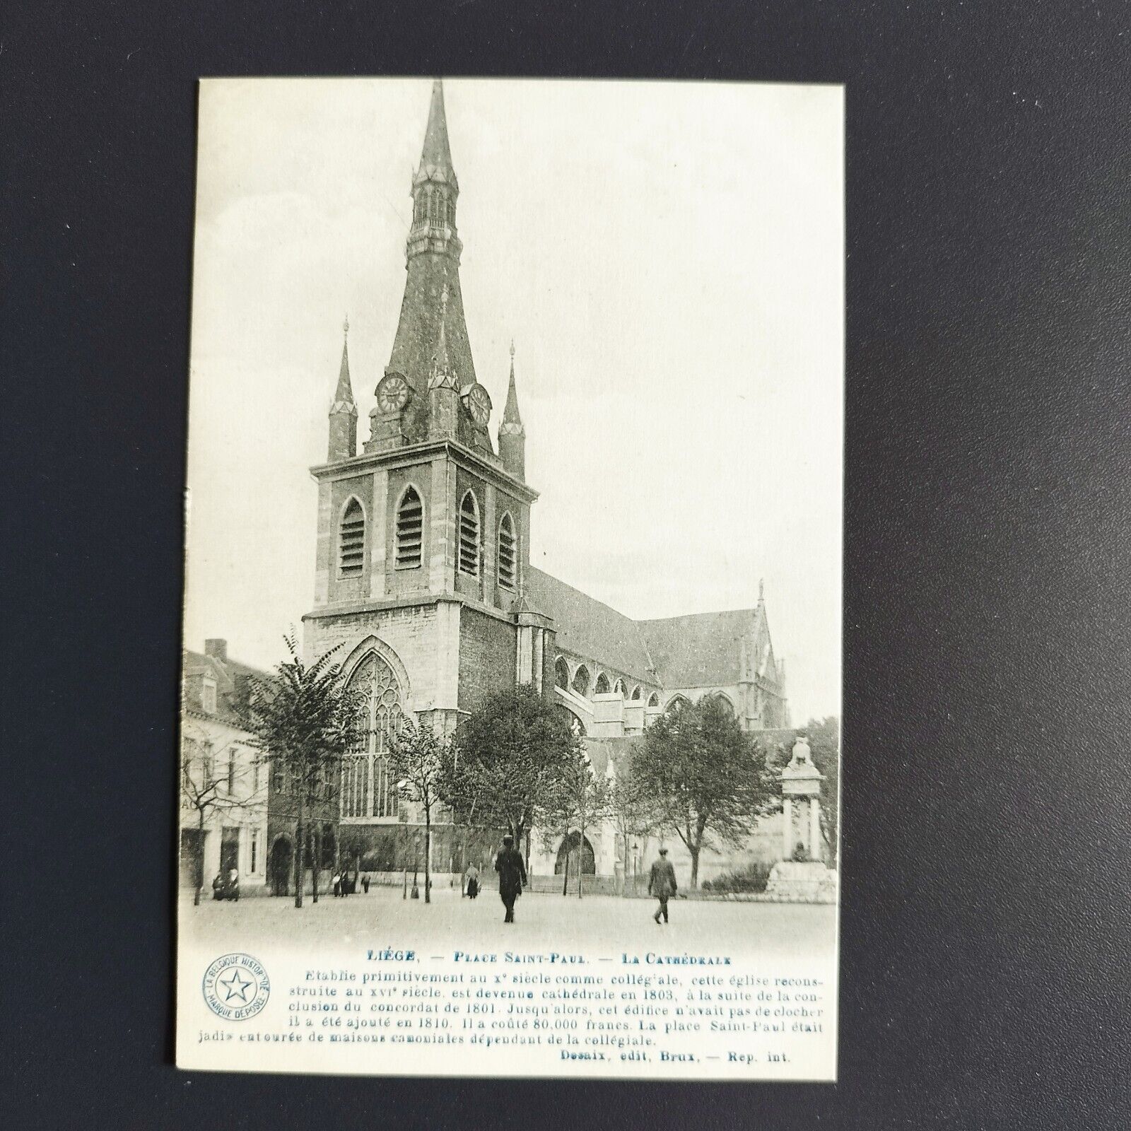
[[[326,461],[311,469],[318,539],[304,650],[313,659],[337,648],[366,697],[338,836],[374,861],[395,855],[405,826],[385,759],[402,715],[448,732],[491,693],[529,683],[568,714],[595,769],[610,775],[679,698],[719,696],[745,729],[788,723],[761,586],[752,608],[634,621],[530,566],[538,495],[526,481],[515,351],[493,429],[464,317],[459,191],[437,81],[412,180],[400,320],[368,435],[359,438],[347,335]],[[288,835],[285,823],[270,822],[273,843]],[[625,874],[615,840],[587,835],[577,846],[584,870]],[[437,871],[461,867],[442,830],[435,852]],[[536,848],[534,871],[560,871],[568,852],[564,843]]]

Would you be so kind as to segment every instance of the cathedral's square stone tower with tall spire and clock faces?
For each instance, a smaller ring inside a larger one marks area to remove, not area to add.
[[[342,821],[374,836],[396,828],[385,752],[398,716],[450,731],[516,682],[553,693],[553,622],[527,588],[537,494],[525,482],[513,357],[497,452],[464,316],[459,181],[439,81],[409,191],[405,293],[369,438],[359,452],[344,347],[328,458],[311,468],[318,549],[305,650],[313,659],[336,648],[351,687],[366,696]]]

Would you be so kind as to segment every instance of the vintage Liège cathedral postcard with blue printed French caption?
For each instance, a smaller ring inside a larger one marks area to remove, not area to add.
[[[181,1067],[836,1078],[843,114],[201,84]]]

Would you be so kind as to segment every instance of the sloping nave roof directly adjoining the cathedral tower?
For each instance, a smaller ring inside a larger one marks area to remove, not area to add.
[[[533,566],[527,578],[532,604],[537,612],[554,619],[560,648],[657,685],[651,658],[636,621]],[[596,674],[590,673],[594,677]]]

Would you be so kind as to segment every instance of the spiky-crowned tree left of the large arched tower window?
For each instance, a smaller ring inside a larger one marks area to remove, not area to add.
[[[251,735],[249,743],[282,772],[295,804],[294,905],[302,907],[308,813],[319,803],[326,809],[336,797],[342,760],[355,745],[361,697],[346,690],[340,665],[331,663],[336,649],[307,665],[294,637],[284,640],[290,659],[277,664],[267,679],[250,676],[242,723]],[[317,812],[314,821],[320,829]],[[316,847],[316,903],[319,864]]]

